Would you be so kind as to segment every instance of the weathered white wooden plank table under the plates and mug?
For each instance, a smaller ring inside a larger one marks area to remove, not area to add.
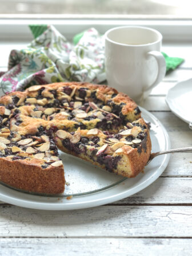
[[[11,49],[0,43],[5,70]],[[192,77],[191,45],[167,43],[170,56],[185,58],[143,107],[166,127],[171,146],[192,146],[192,131],[167,107],[165,95]],[[155,160],[154,160],[155,161]],[[30,210],[0,202],[0,256],[6,255],[192,255],[192,154],[171,155],[164,173],[145,190],[121,201],[85,210]]]

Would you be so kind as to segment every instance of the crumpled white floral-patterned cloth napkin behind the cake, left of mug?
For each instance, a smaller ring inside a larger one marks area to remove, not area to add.
[[[6,93],[62,81],[102,82],[106,79],[103,40],[97,30],[89,29],[74,46],[48,26],[27,49],[11,51],[0,86]]]

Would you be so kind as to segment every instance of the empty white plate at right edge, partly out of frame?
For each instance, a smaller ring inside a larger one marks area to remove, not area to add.
[[[167,105],[171,111],[192,129],[192,78],[177,83],[166,96]]]

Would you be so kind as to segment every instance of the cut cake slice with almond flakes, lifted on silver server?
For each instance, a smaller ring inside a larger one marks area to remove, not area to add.
[[[127,123],[118,133],[97,128],[58,130],[55,140],[62,151],[129,178],[144,169],[151,152],[149,130],[142,118]]]

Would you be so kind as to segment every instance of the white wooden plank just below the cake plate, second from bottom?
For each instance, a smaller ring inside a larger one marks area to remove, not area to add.
[[[192,237],[192,206],[99,206],[43,211],[1,207],[0,237]]]

